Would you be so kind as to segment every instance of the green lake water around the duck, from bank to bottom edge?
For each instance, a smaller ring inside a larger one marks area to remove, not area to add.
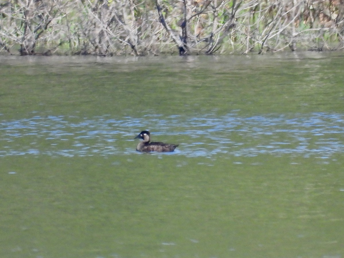
[[[343,257],[343,60],[0,57],[0,257]]]

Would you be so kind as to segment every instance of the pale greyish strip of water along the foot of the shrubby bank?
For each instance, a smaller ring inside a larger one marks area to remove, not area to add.
[[[248,60],[307,60],[318,59],[318,58],[330,58],[330,57],[342,57],[344,50],[336,51],[283,51],[278,53],[267,52],[264,55],[256,55],[255,53],[241,55],[240,53],[232,54],[216,54],[216,55],[184,55],[179,56],[178,54],[169,54],[161,53],[159,56],[133,56],[133,55],[116,55],[116,56],[99,56],[99,55],[63,55],[63,54],[34,54],[34,55],[15,55],[15,54],[6,54],[0,53],[0,60],[2,64],[7,65],[32,65],[32,64],[94,64],[96,63],[105,63],[105,64],[130,64],[130,63],[142,63],[146,64],[165,64],[171,65],[175,62],[226,62],[228,58],[230,62],[234,62],[233,65],[239,64],[240,60],[246,62]],[[212,69],[212,66],[208,66],[209,69]]]

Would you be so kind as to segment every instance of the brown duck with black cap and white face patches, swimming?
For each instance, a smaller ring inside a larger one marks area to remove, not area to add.
[[[140,143],[137,145],[136,150],[140,152],[172,152],[175,148],[179,146],[179,144],[170,144],[170,143],[163,143],[163,142],[151,142],[150,141],[150,133],[149,131],[142,131],[136,136],[134,139],[142,139]]]

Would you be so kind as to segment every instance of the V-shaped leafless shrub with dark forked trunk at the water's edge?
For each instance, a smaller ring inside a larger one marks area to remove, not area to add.
[[[243,1],[182,0],[162,8],[157,0],[159,20],[179,48],[179,54],[212,54],[235,28],[236,13]],[[165,10],[163,15],[162,10]],[[176,10],[179,10],[175,12]],[[170,13],[169,13],[170,12]],[[175,21],[177,19],[177,21]],[[169,23],[174,29],[171,29]],[[178,30],[178,27],[180,29]]]

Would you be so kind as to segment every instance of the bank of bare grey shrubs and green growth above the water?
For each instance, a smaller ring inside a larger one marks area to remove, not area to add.
[[[304,0],[10,0],[0,51],[212,54],[341,49],[344,6]]]

